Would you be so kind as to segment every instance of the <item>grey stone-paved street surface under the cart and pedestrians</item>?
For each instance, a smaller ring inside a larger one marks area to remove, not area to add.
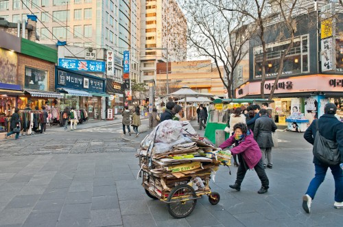
[[[142,120],[147,124],[147,119]],[[192,121],[198,130],[198,123]],[[211,181],[220,193],[213,206],[206,196],[185,219],[174,219],[166,204],[141,187],[138,159],[141,139],[121,131],[121,119],[86,123],[80,130],[48,128],[45,134],[0,140],[0,227],[4,226],[342,226],[343,211],[333,208],[331,172],[318,190],[311,214],[301,207],[314,176],[311,145],[302,133],[279,131],[274,167],[266,169],[268,193],[255,171],[241,191],[237,167],[221,166]],[[204,131],[199,131],[204,134]]]

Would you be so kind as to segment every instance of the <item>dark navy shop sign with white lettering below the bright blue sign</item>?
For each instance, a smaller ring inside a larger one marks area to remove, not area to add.
[[[106,93],[106,82],[104,78],[76,73],[56,67],[56,88],[71,88],[93,93]]]

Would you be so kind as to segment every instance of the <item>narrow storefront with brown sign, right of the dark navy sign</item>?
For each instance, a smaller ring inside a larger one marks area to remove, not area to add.
[[[108,108],[114,109],[115,115],[121,114],[124,106],[123,84],[112,79],[107,79],[106,82],[106,92],[111,95],[108,98]]]

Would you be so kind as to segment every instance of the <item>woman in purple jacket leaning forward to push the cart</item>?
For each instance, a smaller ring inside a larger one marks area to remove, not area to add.
[[[259,189],[257,193],[266,193],[269,188],[269,180],[263,168],[261,159],[262,154],[259,145],[254,139],[254,134],[252,134],[251,130],[248,130],[245,123],[236,123],[235,126],[233,126],[233,130],[235,131],[235,134],[230,136],[230,138],[219,146],[224,149],[235,143],[235,147],[230,151],[232,154],[238,154],[239,166],[236,182],[235,184],[229,185],[229,187],[240,191],[241,182],[243,181],[244,176],[246,176],[246,171],[254,168],[262,184],[261,189]]]

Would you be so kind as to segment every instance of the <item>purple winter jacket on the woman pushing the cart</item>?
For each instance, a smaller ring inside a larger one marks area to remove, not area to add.
[[[233,145],[234,143],[235,143],[235,137],[230,136],[219,147],[224,149],[225,147]],[[246,135],[246,137],[244,138],[244,141],[239,143],[238,146],[233,147],[233,149],[231,149],[230,151],[232,154],[241,153],[249,169],[254,168],[255,165],[259,163],[259,160],[261,160],[261,157],[262,157],[262,153],[261,153],[261,150],[259,149],[259,145],[255,141],[254,134],[252,134],[251,130],[250,130],[250,134]]]

